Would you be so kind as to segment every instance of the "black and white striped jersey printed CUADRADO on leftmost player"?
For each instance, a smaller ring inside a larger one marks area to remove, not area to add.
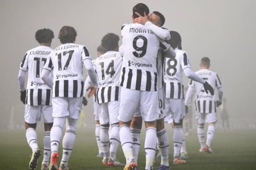
[[[35,47],[26,52],[20,63],[20,70],[28,71],[27,105],[51,105],[51,89],[40,77],[43,65],[51,51],[53,49],[47,46]]]

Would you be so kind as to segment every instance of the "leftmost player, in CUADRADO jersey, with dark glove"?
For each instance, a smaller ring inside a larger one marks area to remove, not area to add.
[[[51,88],[48,87],[40,78],[41,70],[48,55],[53,51],[51,41],[54,38],[53,31],[41,29],[36,31],[35,39],[40,46],[27,51],[19,71],[20,100],[25,104],[25,128],[28,145],[32,149],[32,156],[29,169],[36,169],[37,161],[41,155],[38,148],[36,123],[43,116],[45,123],[45,137],[43,140],[44,157],[41,169],[48,169],[49,156],[51,155],[50,131],[53,126],[53,116],[51,107]],[[25,89],[25,74],[28,71],[27,91]]]

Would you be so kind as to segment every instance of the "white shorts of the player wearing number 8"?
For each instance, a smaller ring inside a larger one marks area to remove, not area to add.
[[[184,99],[165,99],[166,115],[171,114],[173,121],[179,123],[186,116]]]

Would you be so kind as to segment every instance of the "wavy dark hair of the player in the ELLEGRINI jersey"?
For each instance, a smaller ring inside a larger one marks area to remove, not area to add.
[[[75,42],[76,36],[77,31],[75,31],[75,28],[72,26],[62,26],[61,30],[59,30],[59,40],[61,44]]]

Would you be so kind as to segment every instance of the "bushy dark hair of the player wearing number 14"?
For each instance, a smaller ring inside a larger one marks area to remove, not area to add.
[[[119,36],[114,33],[108,33],[101,39],[101,46],[103,46],[106,51],[114,51],[118,47]]]

